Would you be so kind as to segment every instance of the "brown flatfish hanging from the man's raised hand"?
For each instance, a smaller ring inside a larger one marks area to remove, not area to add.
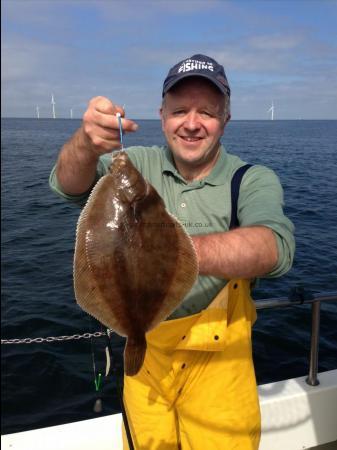
[[[138,373],[146,332],[179,306],[197,274],[191,238],[126,152],[118,152],[78,220],[74,289],[82,309],[127,337],[126,375]]]

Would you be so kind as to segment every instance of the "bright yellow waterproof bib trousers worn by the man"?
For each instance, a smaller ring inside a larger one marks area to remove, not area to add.
[[[231,280],[204,311],[147,333],[142,369],[124,377],[136,450],[258,449],[255,320],[249,281]]]

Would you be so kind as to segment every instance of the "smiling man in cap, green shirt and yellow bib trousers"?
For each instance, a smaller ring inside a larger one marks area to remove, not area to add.
[[[104,97],[91,100],[82,127],[60,152],[52,189],[69,200],[87,198],[108,170],[106,154],[120,148],[118,112],[124,132],[136,131],[123,108]],[[160,116],[167,146],[127,151],[192,236],[199,277],[182,305],[147,333],[139,374],[125,377],[132,439],[144,450],[257,449],[250,281],[290,269],[293,225],[283,214],[277,176],[253,166],[240,188],[240,227],[229,230],[230,183],[244,162],[220,144],[230,88],[214,59],[194,55],[169,71]]]

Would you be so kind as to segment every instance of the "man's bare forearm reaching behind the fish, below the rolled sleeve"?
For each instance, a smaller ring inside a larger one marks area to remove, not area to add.
[[[193,236],[192,240],[201,275],[255,278],[271,272],[278,261],[275,235],[264,226]]]

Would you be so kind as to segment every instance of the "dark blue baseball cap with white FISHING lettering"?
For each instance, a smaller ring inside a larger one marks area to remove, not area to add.
[[[207,78],[230,97],[231,90],[223,66],[206,55],[193,55],[173,66],[164,81],[163,97],[176,83],[191,76]]]

